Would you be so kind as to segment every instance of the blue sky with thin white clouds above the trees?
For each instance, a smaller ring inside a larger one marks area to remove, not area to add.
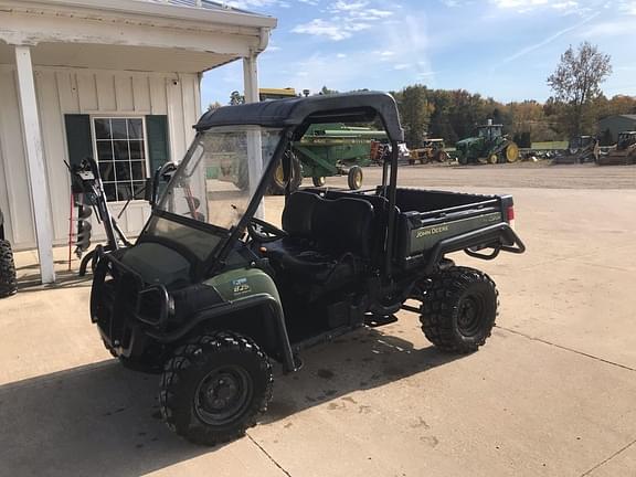
[[[278,19],[259,56],[261,87],[395,91],[422,83],[502,102],[550,96],[570,45],[612,56],[606,95],[636,95],[636,0],[235,0]],[[205,73],[202,100],[242,89],[242,63]]]

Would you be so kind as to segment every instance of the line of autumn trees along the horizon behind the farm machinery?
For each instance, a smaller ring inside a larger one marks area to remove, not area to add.
[[[601,144],[608,145],[608,131],[597,131],[597,121],[612,115],[636,114],[636,97],[608,98],[603,94],[601,84],[611,73],[610,55],[583,42],[576,49],[570,46],[547,78],[553,94],[545,103],[527,99],[505,104],[466,89],[432,89],[423,84],[391,94],[398,103],[410,148],[422,147],[426,138],[442,138],[454,145],[474,135],[476,127],[488,119],[504,125],[504,132],[520,147],[579,135],[600,135]],[[336,93],[324,86],[316,94]],[[243,102],[239,92],[232,93],[230,104]]]

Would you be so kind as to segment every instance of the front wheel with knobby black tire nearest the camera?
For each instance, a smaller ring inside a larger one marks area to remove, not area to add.
[[[163,421],[186,439],[216,445],[256,425],[272,400],[272,364],[258,346],[235,332],[210,332],[177,348],[163,369]]]

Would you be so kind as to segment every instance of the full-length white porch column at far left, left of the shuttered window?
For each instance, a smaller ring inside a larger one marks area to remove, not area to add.
[[[35,218],[35,236],[40,258],[40,275],[43,284],[55,282],[53,267],[53,230],[49,209],[42,132],[38,116],[35,81],[31,63],[31,46],[15,46],[15,66],[18,70],[18,95],[22,113],[22,134],[29,170],[29,188]]]

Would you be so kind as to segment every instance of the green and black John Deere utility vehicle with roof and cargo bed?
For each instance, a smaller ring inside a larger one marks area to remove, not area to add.
[[[285,152],[312,124],[377,118],[392,145],[378,187],[292,193],[288,186],[282,229],[256,216],[273,169],[282,160],[290,176]],[[391,96],[227,106],[195,128],[163,192],[152,193],[137,242],[96,254],[91,295],[106,348],[126,365],[161,370],[161,414],[179,435],[209,445],[242,435],[267,410],[272,362],[298,371],[306,347],[391,322],[401,309],[418,314],[443,351],[485,343],[497,315],[495,284],[449,254],[523,252],[512,198],[398,187],[403,130]],[[261,177],[250,168],[261,159],[256,146],[266,165]],[[229,157],[247,171],[247,187],[206,174]],[[166,176],[158,171],[153,186]]]

